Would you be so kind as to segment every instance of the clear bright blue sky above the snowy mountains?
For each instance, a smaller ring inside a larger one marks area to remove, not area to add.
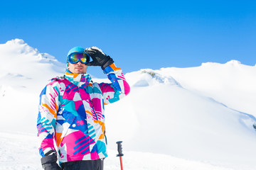
[[[4,1],[0,43],[21,38],[66,61],[100,47],[126,72],[239,60],[255,65],[256,1]],[[104,77],[99,68],[90,68]]]

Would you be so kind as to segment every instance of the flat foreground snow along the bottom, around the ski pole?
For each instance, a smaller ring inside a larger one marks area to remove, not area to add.
[[[35,142],[36,136],[16,132],[0,132],[0,170],[39,170],[40,156]],[[4,146],[4,147],[3,147]],[[21,147],[22,146],[22,147]],[[119,170],[117,150],[109,149],[105,159],[105,170]],[[171,164],[170,164],[171,163]],[[202,162],[178,159],[165,154],[124,151],[124,169],[127,170],[232,170],[221,166],[213,166]]]

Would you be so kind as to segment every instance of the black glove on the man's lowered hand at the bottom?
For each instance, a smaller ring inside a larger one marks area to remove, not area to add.
[[[57,164],[57,155],[51,154],[41,158],[41,163],[44,170],[62,170]]]

